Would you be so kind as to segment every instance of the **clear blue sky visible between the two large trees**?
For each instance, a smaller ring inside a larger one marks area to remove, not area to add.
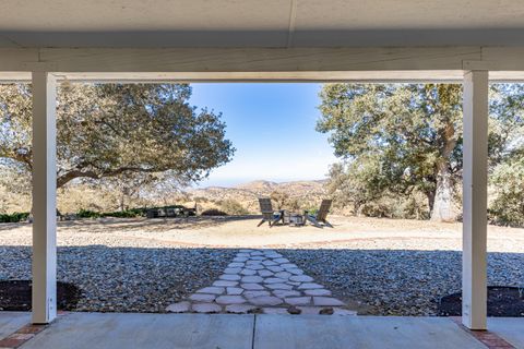
[[[190,103],[223,112],[237,148],[227,165],[198,186],[252,180],[323,179],[336,161],[327,135],[314,131],[320,84],[194,83]]]

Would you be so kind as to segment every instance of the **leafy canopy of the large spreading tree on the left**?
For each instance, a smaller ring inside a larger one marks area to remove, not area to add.
[[[188,84],[71,84],[58,89],[57,185],[135,173],[188,183],[234,154],[221,115],[189,105]],[[0,85],[0,160],[32,167],[27,84]]]

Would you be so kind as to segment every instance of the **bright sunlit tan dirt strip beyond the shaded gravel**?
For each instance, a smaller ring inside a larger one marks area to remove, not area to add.
[[[323,229],[310,225],[257,227],[260,218],[253,216],[62,221],[58,224],[58,244],[79,245],[88,243],[90,238],[107,236],[117,245],[156,242],[183,248],[462,250],[460,222],[330,218],[333,228]],[[22,245],[31,244],[31,225],[0,225],[0,244],[11,239]],[[489,226],[488,251],[524,252],[524,229]]]

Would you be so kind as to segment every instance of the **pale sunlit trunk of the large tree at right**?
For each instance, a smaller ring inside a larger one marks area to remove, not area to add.
[[[445,161],[441,161],[437,169],[437,190],[431,209],[431,220],[455,220],[453,215],[453,182]]]

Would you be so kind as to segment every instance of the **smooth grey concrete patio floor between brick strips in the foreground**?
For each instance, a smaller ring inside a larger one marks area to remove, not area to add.
[[[28,322],[28,313],[0,313],[0,339]],[[515,348],[524,348],[524,318],[490,318],[489,325]],[[138,313],[69,313],[20,348],[415,347],[487,348],[445,317]]]

